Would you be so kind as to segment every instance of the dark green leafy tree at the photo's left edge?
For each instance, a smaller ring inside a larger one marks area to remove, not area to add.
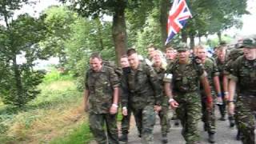
[[[6,104],[24,106],[39,93],[38,84],[43,74],[33,70],[34,61],[46,59],[47,50],[42,50],[38,42],[46,35],[46,27],[41,18],[28,14],[12,20],[14,10],[26,1],[1,1],[0,16],[5,26],[0,29],[0,96]],[[24,62],[18,62],[22,56]]]

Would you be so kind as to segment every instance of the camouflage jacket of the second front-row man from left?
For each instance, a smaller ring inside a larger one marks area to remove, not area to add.
[[[122,90],[128,91],[122,94],[122,106],[127,106],[129,102],[133,108],[141,109],[147,105],[161,104],[157,74],[143,62],[138,70],[131,70],[127,77],[122,78]]]

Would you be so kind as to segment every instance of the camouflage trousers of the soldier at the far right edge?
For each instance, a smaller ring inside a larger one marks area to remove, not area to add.
[[[254,144],[254,111],[256,110],[256,95],[239,94],[235,107],[235,117],[238,130],[242,133],[242,143]]]

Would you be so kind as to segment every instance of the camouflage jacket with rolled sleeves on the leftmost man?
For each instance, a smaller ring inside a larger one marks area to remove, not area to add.
[[[120,85],[118,75],[109,66],[102,66],[102,70],[86,72],[85,86],[89,90],[89,110],[95,114],[109,113],[113,102],[114,88]]]

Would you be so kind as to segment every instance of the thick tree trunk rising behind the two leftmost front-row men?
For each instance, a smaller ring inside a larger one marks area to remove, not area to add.
[[[118,5],[115,7],[112,24],[112,36],[114,40],[114,49],[118,66],[119,59],[121,58],[122,54],[126,53],[127,49],[125,9],[126,2],[124,0],[118,1]]]

